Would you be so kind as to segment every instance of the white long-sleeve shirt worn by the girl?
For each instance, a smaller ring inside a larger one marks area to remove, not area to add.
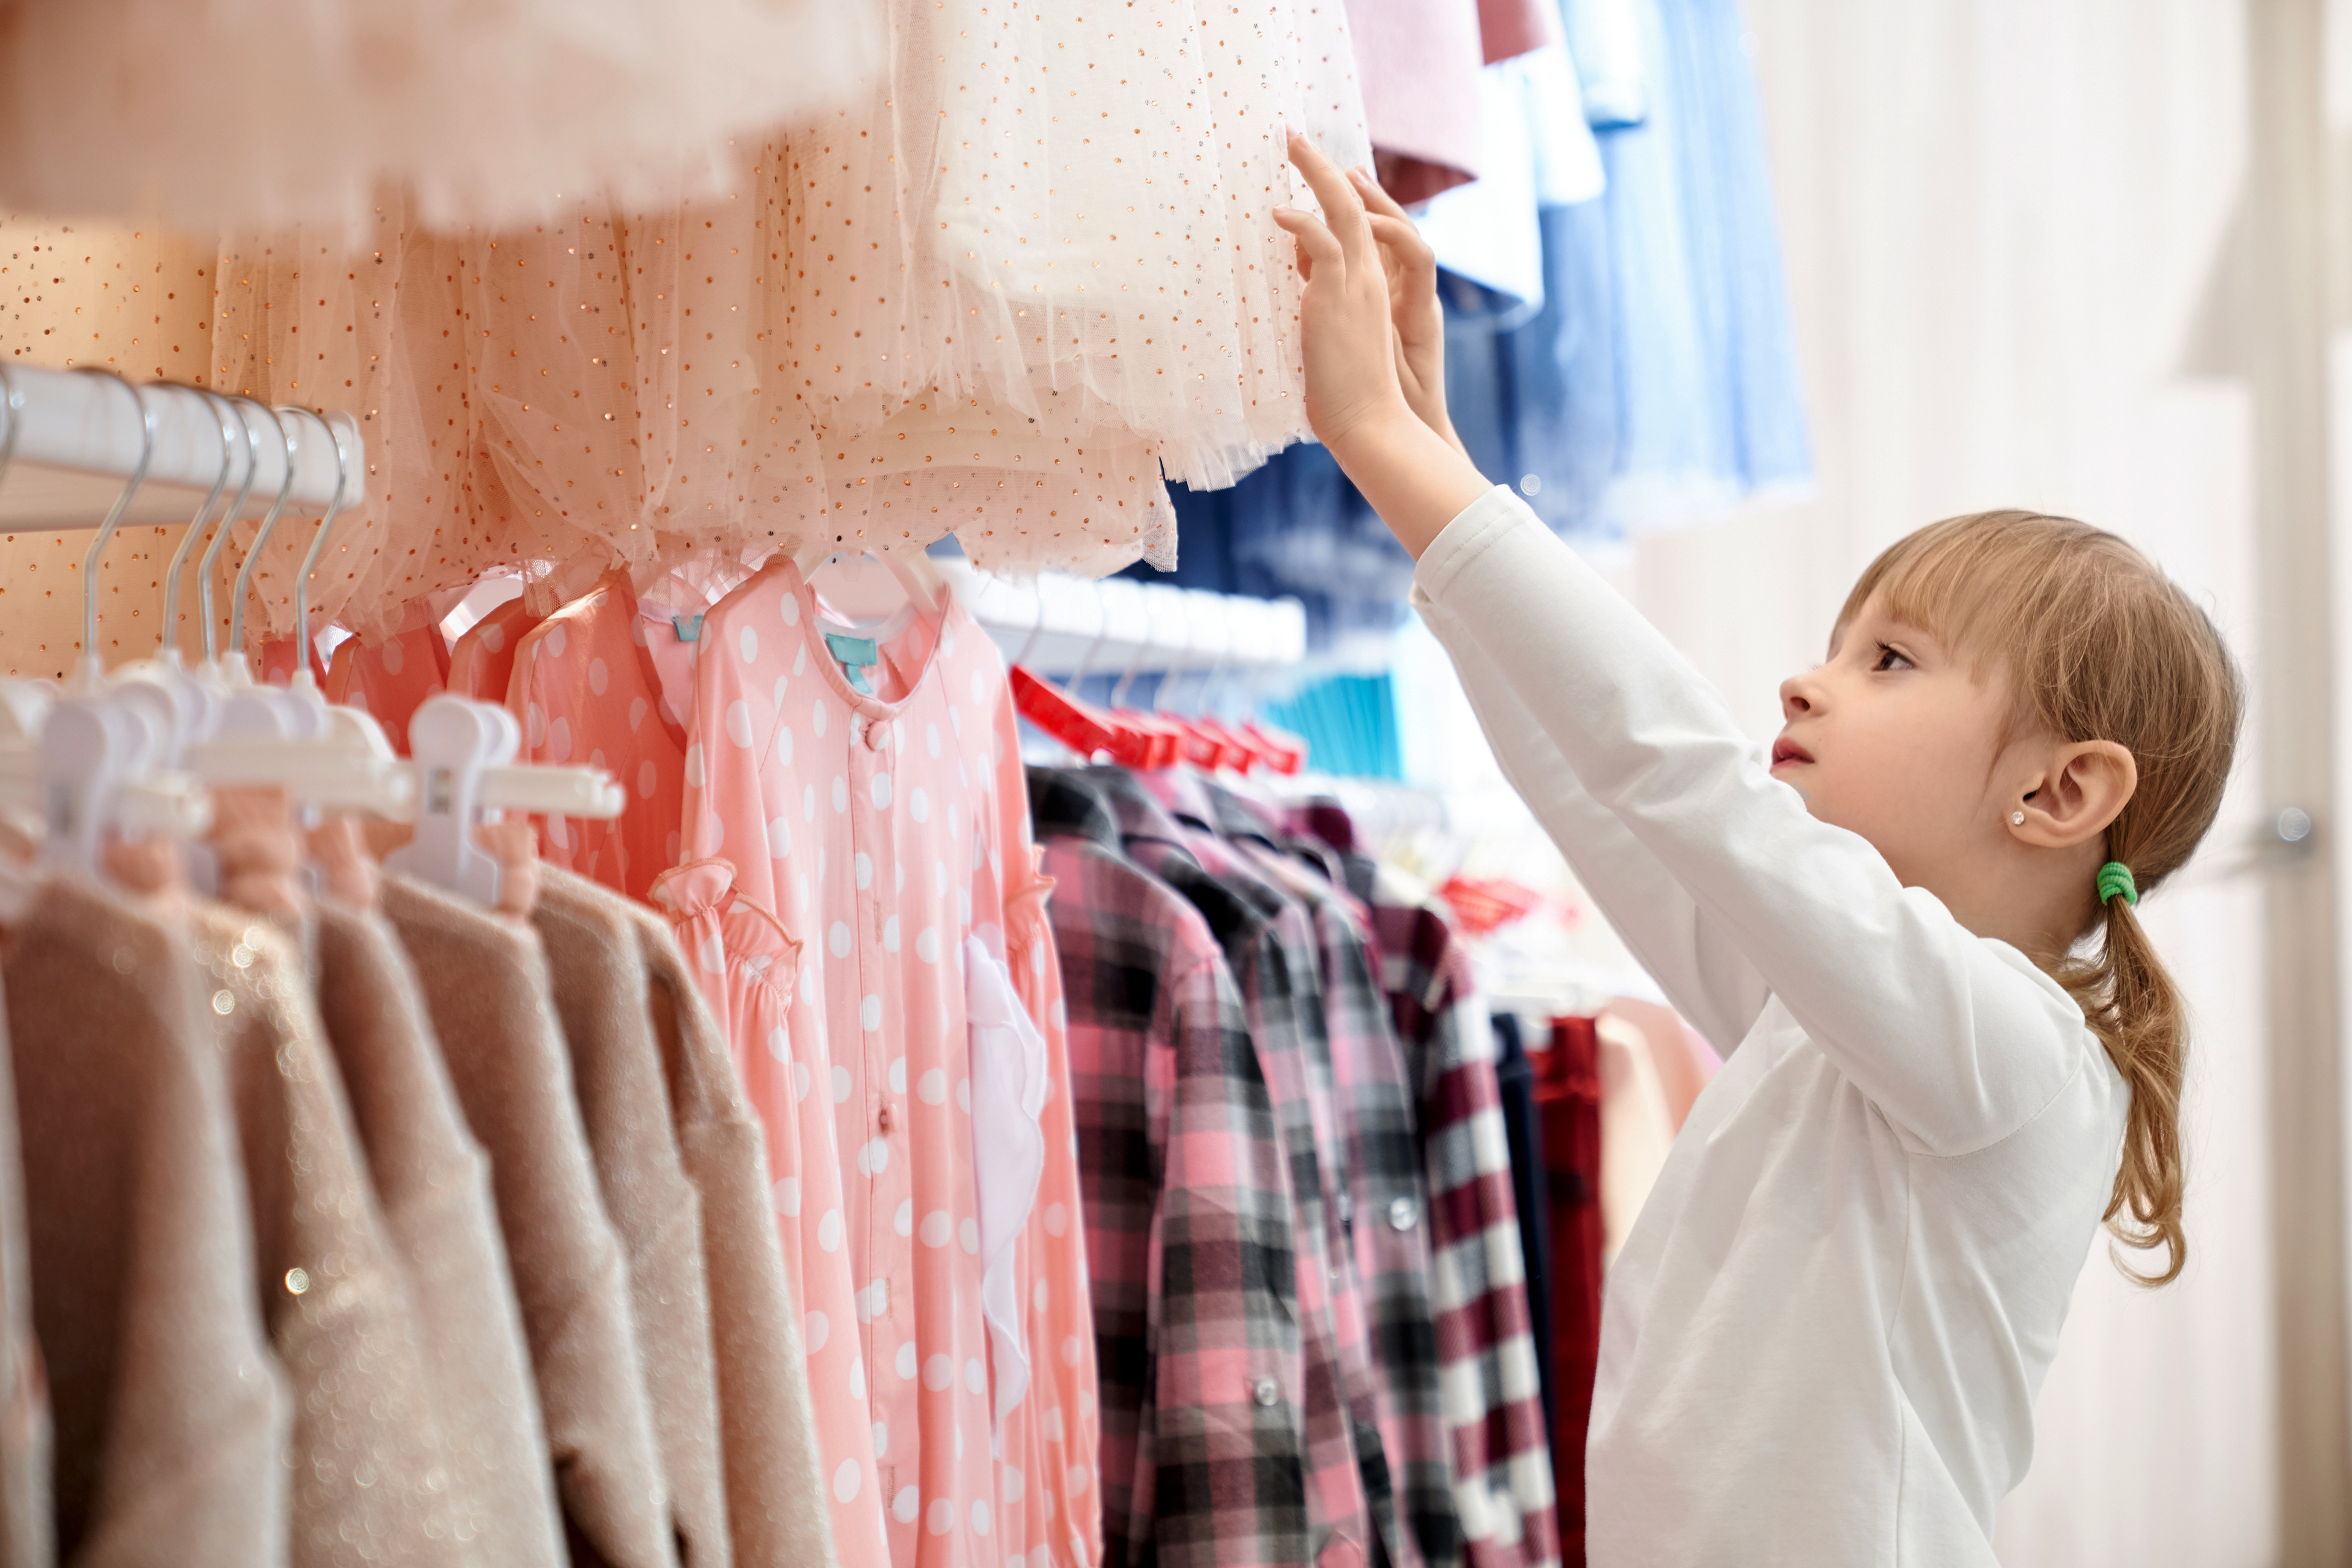
[[[2098,1037],[1816,820],[1510,489],[1414,599],[1510,783],[1729,1053],[1609,1274],[1590,1561],[1990,1566],[2119,1164]]]

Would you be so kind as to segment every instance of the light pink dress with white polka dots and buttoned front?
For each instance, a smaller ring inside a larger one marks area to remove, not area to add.
[[[877,642],[870,693],[826,632]],[[769,1152],[779,1180],[804,1182],[802,1222],[786,1227],[804,1300],[847,1288],[856,1314],[807,1335],[842,1561],[1101,1561],[1068,1046],[1002,658],[953,602],[938,628],[906,609],[856,630],[823,621],[790,562],[767,567],[701,625],[684,820],[691,851],[731,860],[741,896],[802,943],[783,1037],[727,1023],[771,1128],[826,1098],[835,1114],[840,1208],[814,1208],[821,1140],[797,1166],[781,1140]],[[1030,1385],[1000,1427],[967,936],[1007,961],[1047,1034],[1044,1161],[1014,1246]]]

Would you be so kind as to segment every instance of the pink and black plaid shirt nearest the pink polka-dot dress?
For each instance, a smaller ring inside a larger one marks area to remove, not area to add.
[[[1089,785],[1028,783],[1070,1020],[1103,1561],[1305,1563],[1296,1213],[1240,987]]]

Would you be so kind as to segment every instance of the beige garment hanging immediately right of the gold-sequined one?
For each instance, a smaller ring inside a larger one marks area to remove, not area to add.
[[[423,1328],[452,1509],[482,1563],[555,1568],[562,1530],[522,1307],[423,992],[372,907],[322,898],[318,1011]]]

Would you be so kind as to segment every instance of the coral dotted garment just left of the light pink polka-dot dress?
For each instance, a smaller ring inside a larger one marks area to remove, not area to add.
[[[597,766],[628,790],[609,823],[541,818],[541,860],[644,898],[680,860],[687,741],[663,712],[626,571],[607,571],[522,637],[506,705],[522,722],[524,762]]]

